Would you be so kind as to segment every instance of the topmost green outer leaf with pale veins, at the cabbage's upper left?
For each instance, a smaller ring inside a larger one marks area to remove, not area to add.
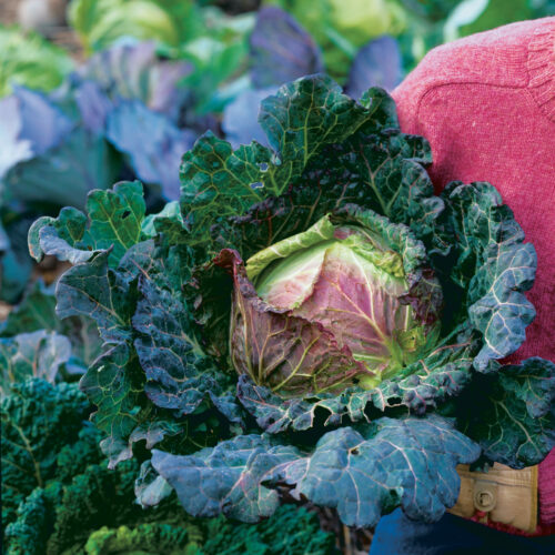
[[[260,122],[279,158],[255,142],[233,151],[211,133],[199,139],[181,167],[181,210],[191,241],[204,243],[216,222],[285,192],[323,145],[355,132],[375,109],[345,97],[330,78],[306,78],[262,102]]]

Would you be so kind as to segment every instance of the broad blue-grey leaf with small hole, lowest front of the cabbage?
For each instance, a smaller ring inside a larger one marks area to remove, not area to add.
[[[435,522],[458,496],[456,465],[478,455],[443,418],[384,417],[329,432],[310,457],[282,465],[263,483],[285,482],[293,495],[336,508],[350,526],[374,527],[398,505],[411,518]]]

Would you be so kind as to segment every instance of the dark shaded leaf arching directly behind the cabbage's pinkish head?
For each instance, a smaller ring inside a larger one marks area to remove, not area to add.
[[[325,88],[325,82],[317,77],[303,81],[316,81],[319,88]],[[333,98],[332,92],[329,95]],[[304,108],[301,102],[296,105],[297,98],[293,97],[292,101],[292,113],[302,113]],[[349,113],[349,107],[342,107],[342,102],[341,99],[336,101],[337,110],[344,109]],[[369,107],[367,121],[357,125],[355,119],[354,125],[345,127],[344,132],[351,132],[346,140],[330,144],[337,138],[332,133],[321,134],[323,142],[306,161],[302,151],[287,152],[289,157],[296,155],[304,161],[299,163],[306,165],[301,175],[287,178],[289,186],[280,196],[268,196],[260,202],[252,200],[246,211],[233,210],[242,215],[228,221],[212,218],[206,222],[211,226],[211,242],[206,238],[202,243],[204,252],[216,253],[218,248],[229,246],[248,259],[276,241],[305,231],[325,213],[346,203],[370,208],[394,222],[408,224],[418,239],[426,240],[431,252],[447,250],[435,223],[443,210],[443,201],[434,195],[430,178],[421,165],[431,162],[430,145],[422,138],[398,133],[395,104],[381,89],[367,91],[362,102]],[[270,114],[268,120],[269,125]],[[294,133],[285,134],[293,137]],[[199,171],[190,170],[189,178],[200,183]],[[253,178],[252,182],[255,183],[256,179]],[[183,183],[183,191],[189,185]],[[256,192],[261,191],[264,190],[256,189]],[[212,195],[212,199],[216,198]],[[186,204],[182,203],[185,216],[191,195],[186,195]]]

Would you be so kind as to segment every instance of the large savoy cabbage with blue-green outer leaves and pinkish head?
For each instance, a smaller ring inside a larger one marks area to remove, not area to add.
[[[536,255],[488,183],[435,195],[425,139],[381,89],[325,77],[261,105],[269,148],[206,133],[181,198],[89,194],[30,230],[73,264],[57,313],[104,342],[81,389],[113,467],[143,461],[143,506],[256,522],[291,496],[373,527],[435,521],[457,464],[512,467],[554,445],[555,365],[525,340]],[[246,261],[243,262],[243,261]]]

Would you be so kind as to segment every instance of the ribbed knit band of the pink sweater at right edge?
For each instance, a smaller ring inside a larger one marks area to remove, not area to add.
[[[555,121],[555,18],[529,41],[527,69],[529,92],[542,112]]]

